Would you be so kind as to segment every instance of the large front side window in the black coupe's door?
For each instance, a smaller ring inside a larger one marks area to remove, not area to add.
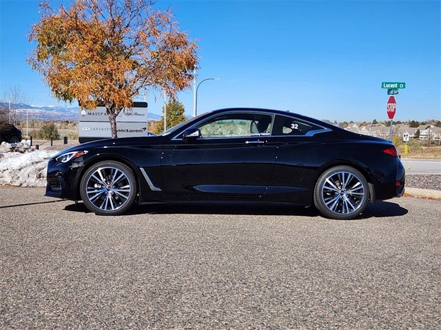
[[[198,129],[202,137],[242,137],[271,134],[272,115],[227,113],[203,122]]]

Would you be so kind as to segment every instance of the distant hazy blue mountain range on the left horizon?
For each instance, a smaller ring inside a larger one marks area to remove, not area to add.
[[[0,102],[1,109],[8,109],[8,102]],[[24,103],[11,104],[11,111],[17,111],[18,118],[37,120],[78,120],[80,107],[61,107],[58,105],[36,106]],[[161,115],[149,112],[149,119],[159,120]]]

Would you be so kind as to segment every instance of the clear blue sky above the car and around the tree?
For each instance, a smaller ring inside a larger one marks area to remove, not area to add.
[[[69,1],[64,1],[68,3]],[[0,0],[0,96],[59,104],[25,62],[39,1]],[[57,5],[59,1],[52,1]],[[441,1],[158,1],[201,56],[198,114],[228,107],[387,120],[382,82],[404,82],[395,120],[441,119]],[[178,94],[193,112],[192,90]],[[139,100],[142,100],[139,99]],[[161,113],[161,96],[147,100]],[[75,106],[77,104],[74,104]]]

